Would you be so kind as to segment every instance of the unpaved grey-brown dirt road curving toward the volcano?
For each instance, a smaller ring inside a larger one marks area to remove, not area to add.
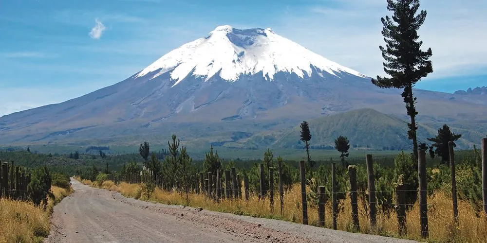
[[[201,208],[167,206],[91,188],[72,179],[44,242],[408,242]]]

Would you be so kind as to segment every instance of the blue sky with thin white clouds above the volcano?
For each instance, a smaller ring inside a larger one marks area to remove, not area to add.
[[[423,0],[434,72],[418,88],[487,84],[487,1]],[[341,65],[382,75],[385,0],[2,0],[0,116],[112,85],[216,26],[271,28]]]

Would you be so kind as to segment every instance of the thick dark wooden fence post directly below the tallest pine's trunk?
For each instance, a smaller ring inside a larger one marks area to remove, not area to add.
[[[421,223],[421,237],[428,238],[428,202],[426,184],[426,151],[419,150],[418,157],[418,177],[419,177],[419,218]]]

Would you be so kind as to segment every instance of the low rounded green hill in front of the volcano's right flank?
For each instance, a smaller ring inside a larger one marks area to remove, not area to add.
[[[312,133],[311,145],[316,149],[334,149],[338,136],[350,140],[351,149],[410,149],[411,140],[407,138],[407,122],[393,115],[386,115],[374,109],[364,108],[338,113],[308,121]],[[418,141],[429,142],[427,138],[436,135],[441,122],[419,124]],[[454,133],[463,135],[457,144],[468,148],[478,143],[485,136],[486,126],[449,124]],[[261,133],[248,139],[238,141],[242,147],[284,147],[302,148],[300,126],[290,131]],[[227,147],[236,143],[225,144]]]

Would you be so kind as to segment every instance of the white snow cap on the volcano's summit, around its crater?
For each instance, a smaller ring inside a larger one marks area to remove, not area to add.
[[[205,77],[205,81],[219,74],[227,81],[236,81],[241,75],[262,71],[265,79],[273,80],[282,71],[295,73],[300,78],[311,76],[313,69],[335,75],[349,73],[365,75],[332,62],[299,44],[277,35],[271,29],[239,30],[229,25],[218,26],[207,37],[199,38],[165,54],[137,74],[145,76],[158,71],[155,78],[170,72],[177,85],[188,75]]]

